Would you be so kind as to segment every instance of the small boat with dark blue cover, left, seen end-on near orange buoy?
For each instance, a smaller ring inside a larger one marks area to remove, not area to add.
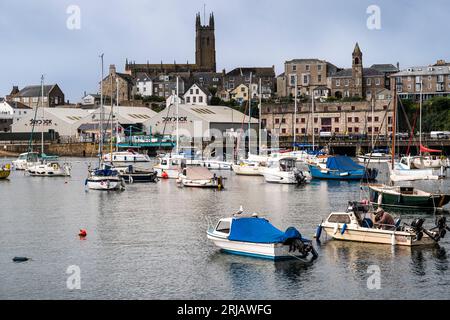
[[[104,165],[102,169],[89,172],[85,185],[92,190],[124,190],[125,181],[119,172],[111,166]]]

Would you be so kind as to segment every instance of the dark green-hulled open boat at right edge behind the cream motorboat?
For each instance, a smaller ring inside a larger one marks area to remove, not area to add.
[[[450,202],[450,194],[431,193],[414,187],[369,185],[370,202],[374,206],[408,210],[442,210]]]

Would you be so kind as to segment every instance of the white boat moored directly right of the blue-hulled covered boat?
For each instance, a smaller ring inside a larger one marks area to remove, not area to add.
[[[415,181],[415,180],[438,180],[439,174],[433,169],[414,169],[413,157],[402,157],[399,162],[394,163],[394,168],[389,165],[390,179],[393,182]]]

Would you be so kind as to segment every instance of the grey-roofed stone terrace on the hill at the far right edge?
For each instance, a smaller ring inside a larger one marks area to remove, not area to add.
[[[450,64],[444,60],[430,66],[409,67],[391,77],[395,79],[392,81],[391,90],[396,83],[398,95],[405,99],[419,100],[421,84],[424,100],[450,94]]]

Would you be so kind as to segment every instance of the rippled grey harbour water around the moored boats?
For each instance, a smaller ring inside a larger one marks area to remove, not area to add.
[[[206,239],[208,219],[216,222],[240,205],[312,237],[331,210],[360,198],[357,182],[297,187],[221,172],[224,191],[179,188],[173,180],[132,184],[124,192],[86,191],[89,160],[70,160],[70,178],[16,171],[0,181],[1,299],[450,298],[450,235],[440,248],[322,241],[311,265],[223,254]],[[383,181],[387,167],[380,170]],[[414,185],[448,192],[449,181]],[[14,256],[32,260],[14,263]],[[79,290],[67,288],[73,265],[81,271]],[[373,265],[381,271],[380,289],[367,286]]]

